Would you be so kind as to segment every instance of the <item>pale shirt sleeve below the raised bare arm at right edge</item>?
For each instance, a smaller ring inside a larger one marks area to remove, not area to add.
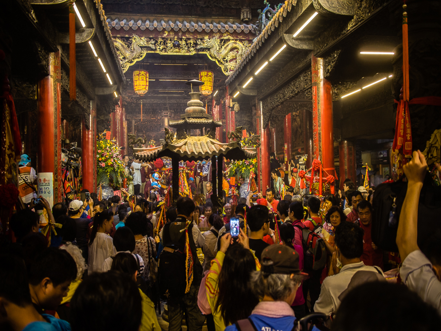
[[[441,282],[432,270],[432,263],[419,249],[406,256],[400,277],[410,290],[441,314]]]

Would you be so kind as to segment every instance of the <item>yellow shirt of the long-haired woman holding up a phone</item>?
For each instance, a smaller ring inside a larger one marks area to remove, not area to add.
[[[253,251],[251,253],[254,256]],[[224,319],[221,316],[221,311],[218,309],[216,312],[214,311],[214,307],[216,306],[217,297],[219,296],[219,289],[217,287],[217,278],[219,277],[219,273],[221,272],[222,264],[224,263],[225,254],[218,251],[216,257],[211,261],[210,272],[206,278],[205,288],[207,292],[208,303],[210,305],[211,311],[213,312],[213,320],[214,326],[216,327],[216,331],[224,331],[225,325]],[[256,261],[256,270],[260,270],[260,263],[256,256],[254,256],[254,260]]]

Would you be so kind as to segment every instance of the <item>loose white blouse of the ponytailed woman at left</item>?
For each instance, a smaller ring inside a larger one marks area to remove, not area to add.
[[[97,232],[97,236],[89,246],[88,275],[93,272],[103,272],[104,261],[110,256],[115,256],[115,254],[116,249],[113,246],[112,237],[108,234]]]

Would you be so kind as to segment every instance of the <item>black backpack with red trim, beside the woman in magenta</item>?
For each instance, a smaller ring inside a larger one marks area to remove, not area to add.
[[[326,265],[326,246],[323,239],[308,228],[299,225],[294,225],[294,227],[302,230],[303,270],[323,269]]]

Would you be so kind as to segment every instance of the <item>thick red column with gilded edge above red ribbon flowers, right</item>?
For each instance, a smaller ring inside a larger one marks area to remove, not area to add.
[[[314,158],[335,176],[332,86],[324,78],[323,59],[312,56]]]

